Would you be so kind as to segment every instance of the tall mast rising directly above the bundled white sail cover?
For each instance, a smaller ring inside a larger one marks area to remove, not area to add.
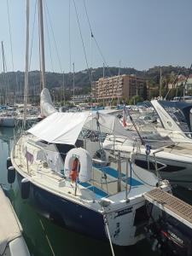
[[[41,77],[42,87],[45,88],[45,64],[44,64],[44,18],[43,18],[43,4],[42,0],[38,0],[38,24],[40,34],[40,65],[41,65]]]

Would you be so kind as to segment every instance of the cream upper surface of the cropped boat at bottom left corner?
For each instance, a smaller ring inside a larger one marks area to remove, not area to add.
[[[14,208],[9,199],[4,195],[3,189],[0,187],[0,255],[3,255],[5,247],[9,241],[21,236],[21,225],[17,218]]]

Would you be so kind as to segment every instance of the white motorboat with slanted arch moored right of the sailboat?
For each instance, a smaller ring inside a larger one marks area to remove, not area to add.
[[[134,147],[134,152],[137,153],[136,164],[147,169],[148,166],[152,169],[155,168],[155,154],[156,160],[161,163],[158,166],[162,167],[160,170],[162,178],[168,179],[172,184],[192,189],[192,138],[190,137],[189,124],[178,122],[160,104],[160,101],[154,100],[151,103],[159,116],[161,125],[153,122],[149,123],[148,119],[146,121],[139,117],[134,119],[131,115],[128,129],[137,129],[140,136],[135,136],[136,143],[130,143],[129,138],[125,137],[114,143],[111,142],[111,137],[108,136],[103,143],[103,147],[105,149],[114,148],[114,150],[125,151],[127,154],[130,154],[133,150],[132,147]],[[174,102],[165,102],[164,104],[170,106],[170,108],[174,107]],[[179,105],[180,108],[183,108],[189,123],[189,110],[192,105],[183,102],[179,102]],[[173,111],[176,112],[175,108]],[[184,114],[180,113],[180,116],[180,119],[185,119]],[[131,118],[133,119],[132,121]],[[148,154],[146,154],[146,146],[150,148]]]

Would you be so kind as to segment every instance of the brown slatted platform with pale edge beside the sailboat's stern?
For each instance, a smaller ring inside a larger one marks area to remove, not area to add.
[[[161,189],[145,193],[144,198],[192,228],[192,206]]]

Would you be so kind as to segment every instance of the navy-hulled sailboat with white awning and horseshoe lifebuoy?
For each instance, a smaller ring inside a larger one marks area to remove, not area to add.
[[[145,196],[151,191],[169,196],[170,184],[161,180],[158,168],[149,172],[136,166],[134,153],[103,148],[107,134],[117,140],[130,135],[115,116],[58,113],[46,88],[42,96],[44,119],[23,132],[11,151],[22,198],[56,224],[109,241],[112,253],[113,245],[131,246],[145,238],[145,227],[162,216],[159,207],[146,204]]]

